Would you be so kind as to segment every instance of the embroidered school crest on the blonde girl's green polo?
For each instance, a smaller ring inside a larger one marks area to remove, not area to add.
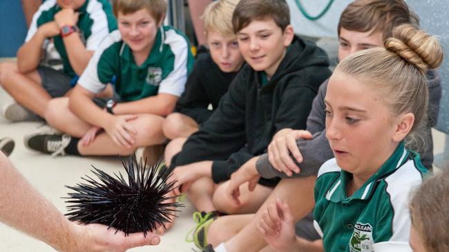
[[[351,252],[372,252],[372,226],[357,222],[354,225],[354,233],[350,240]]]

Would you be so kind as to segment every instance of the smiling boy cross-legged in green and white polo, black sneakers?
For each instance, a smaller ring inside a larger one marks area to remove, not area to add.
[[[30,149],[126,156],[137,147],[164,143],[164,116],[184,92],[193,65],[189,42],[162,25],[164,0],[117,0],[113,6],[119,30],[104,39],[70,100],[54,99],[46,112],[48,123],[66,134],[30,134],[25,140]],[[114,98],[102,109],[92,99],[111,82]]]

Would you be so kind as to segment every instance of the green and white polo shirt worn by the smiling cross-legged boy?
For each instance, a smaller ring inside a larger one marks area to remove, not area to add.
[[[95,52],[78,84],[98,94],[115,79],[114,89],[122,101],[136,101],[158,93],[181,96],[192,67],[187,38],[169,26],[157,31],[153,48],[140,66],[135,64],[131,48],[117,30]]]

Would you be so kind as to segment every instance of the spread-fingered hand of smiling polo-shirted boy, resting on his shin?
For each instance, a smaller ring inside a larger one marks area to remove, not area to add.
[[[115,115],[110,122],[104,125],[104,130],[116,145],[130,149],[135,143],[134,136],[137,131],[128,122],[136,118],[137,115],[134,114]]]

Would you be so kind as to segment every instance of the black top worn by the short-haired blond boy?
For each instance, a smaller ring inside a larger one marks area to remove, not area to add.
[[[198,124],[204,123],[218,107],[236,75],[237,72],[222,72],[210,52],[198,55],[187,78],[186,90],[176,104],[176,112],[193,118]],[[209,104],[212,110],[208,109]]]

